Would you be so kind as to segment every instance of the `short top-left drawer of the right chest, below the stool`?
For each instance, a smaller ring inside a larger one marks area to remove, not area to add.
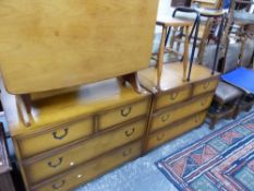
[[[164,94],[157,94],[155,99],[155,110],[186,100],[191,97],[192,86],[186,85],[181,88],[170,91]]]

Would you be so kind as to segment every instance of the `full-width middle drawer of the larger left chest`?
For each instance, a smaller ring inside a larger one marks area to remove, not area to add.
[[[81,165],[113,148],[141,139],[145,132],[146,119],[124,126],[121,129],[102,133],[94,139],[74,145],[64,152],[44,159],[24,163],[28,182],[38,181]]]

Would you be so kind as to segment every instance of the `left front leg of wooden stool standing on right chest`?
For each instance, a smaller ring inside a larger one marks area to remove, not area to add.
[[[167,27],[162,26],[162,34],[159,45],[159,53],[158,53],[158,61],[157,61],[157,88],[160,89],[160,79],[164,67],[164,53],[165,53],[165,40],[167,35]]]

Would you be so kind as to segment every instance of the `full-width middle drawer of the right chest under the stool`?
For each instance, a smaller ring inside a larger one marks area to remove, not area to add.
[[[186,103],[171,107],[170,109],[157,112],[153,116],[150,131],[164,128],[177,120],[181,120],[193,114],[203,111],[210,106],[214,94],[198,96]]]

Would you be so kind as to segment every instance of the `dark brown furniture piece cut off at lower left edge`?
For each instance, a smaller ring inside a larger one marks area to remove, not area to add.
[[[0,123],[0,191],[15,191],[3,132],[2,123]]]

